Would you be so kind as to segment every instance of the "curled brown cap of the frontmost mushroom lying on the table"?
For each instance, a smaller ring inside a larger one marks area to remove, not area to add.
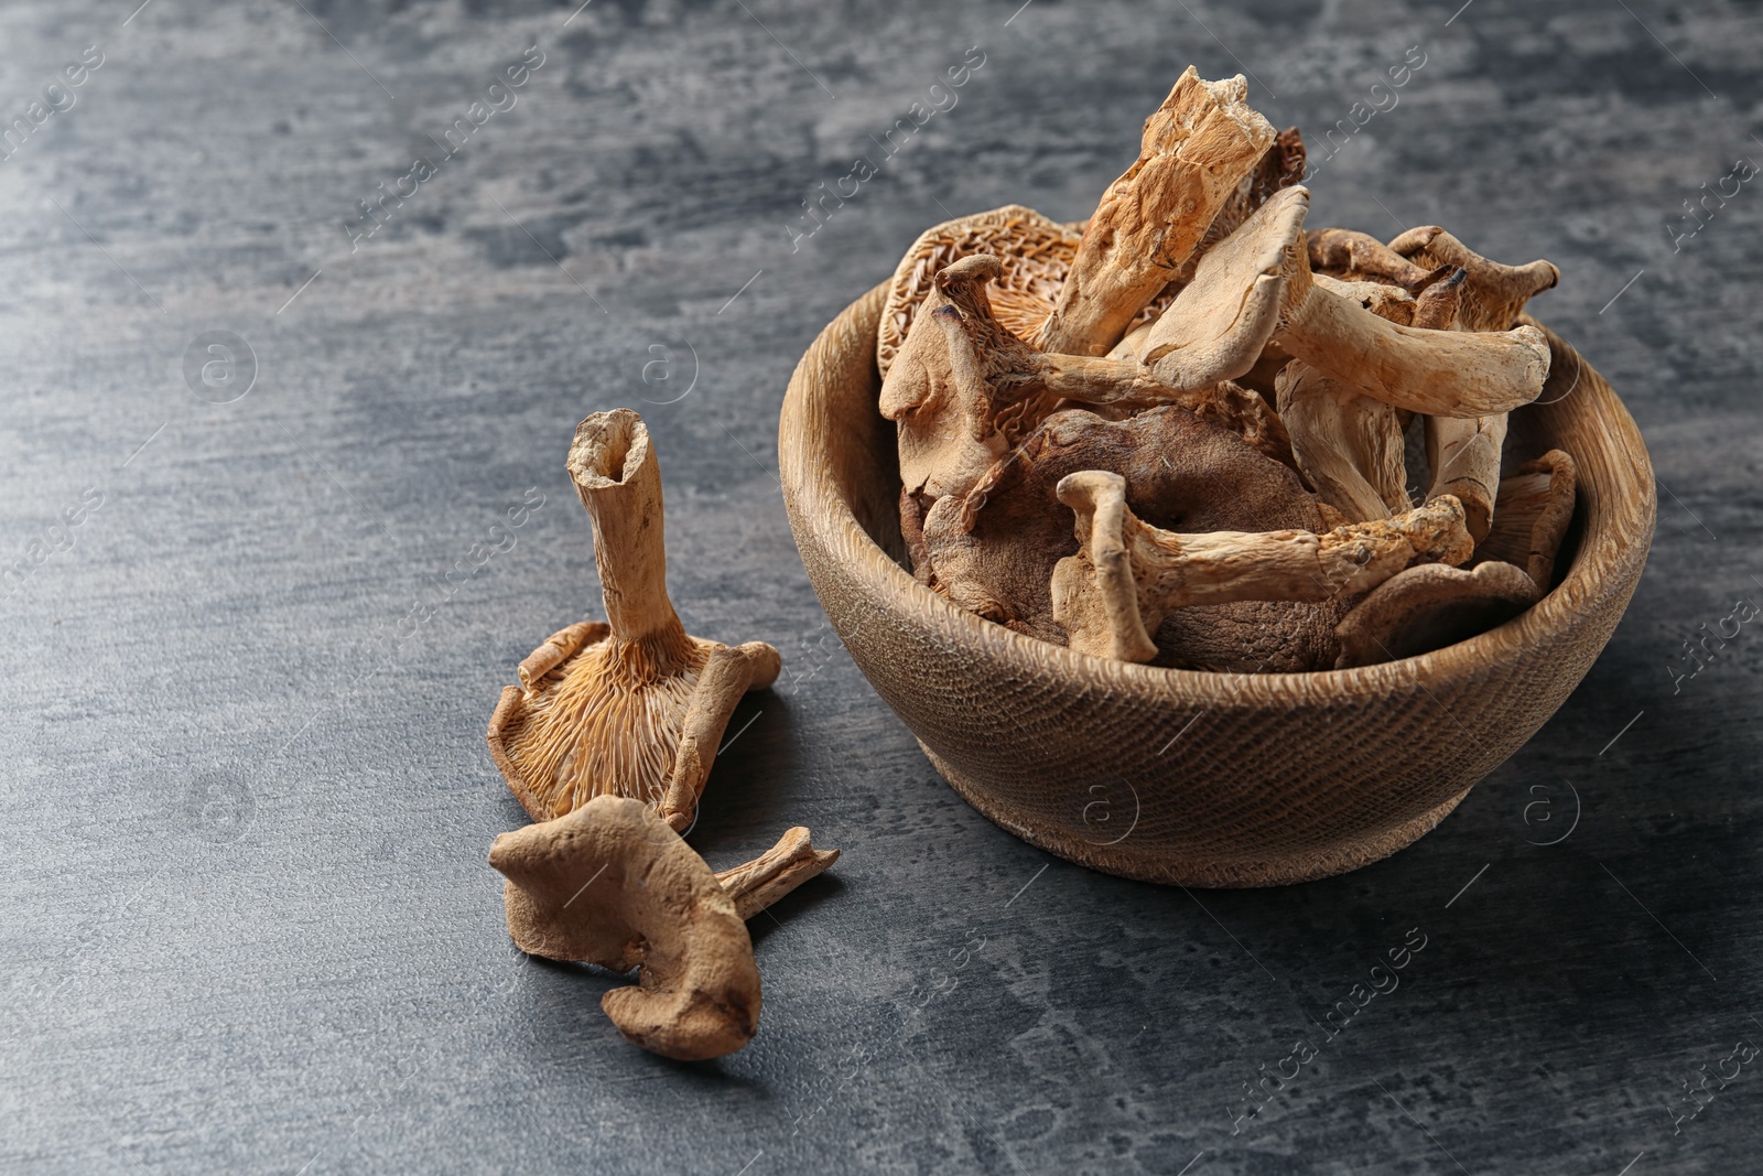
[[[748,927],[703,859],[642,802],[603,795],[504,832],[490,864],[508,876],[520,950],[640,970],[636,986],[599,1001],[631,1042],[700,1061],[753,1038],[760,973]]]

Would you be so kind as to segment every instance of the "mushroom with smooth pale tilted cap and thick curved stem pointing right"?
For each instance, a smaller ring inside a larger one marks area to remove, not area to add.
[[[1266,300],[1278,296],[1269,342],[1398,409],[1486,416],[1537,397],[1550,363],[1541,330],[1470,333],[1400,326],[1313,282],[1303,236],[1308,206],[1310,192],[1303,187],[1275,192],[1201,261],[1194,284],[1164,312],[1144,349],[1160,379],[1171,379],[1171,361],[1181,349],[1201,347],[1218,335],[1216,319],[1262,314]],[[1208,263],[1215,257],[1208,280]],[[1209,307],[1206,317],[1183,312],[1190,296]]]

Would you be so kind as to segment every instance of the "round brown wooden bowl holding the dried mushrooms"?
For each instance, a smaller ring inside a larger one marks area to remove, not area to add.
[[[1513,451],[1578,464],[1557,584],[1497,629],[1322,674],[1202,674],[1075,654],[919,585],[899,538],[894,425],[876,411],[883,287],[844,309],[790,379],[785,508],[807,578],[876,693],[973,808],[1093,869],[1261,887],[1358,869],[1437,825],[1590,670],[1654,529],[1640,430],[1550,333]]]

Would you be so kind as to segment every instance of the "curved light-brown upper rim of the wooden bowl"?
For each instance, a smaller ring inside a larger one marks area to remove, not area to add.
[[[1625,462],[1594,462],[1588,460],[1592,455],[1571,453],[1580,469],[1576,502],[1576,517],[1583,513],[1580,545],[1566,575],[1525,612],[1493,629],[1423,654],[1347,670],[1291,674],[1151,666],[1082,654],[1065,645],[1015,633],[954,605],[919,584],[894,562],[862,527],[852,502],[836,485],[825,457],[825,435],[815,437],[806,428],[807,384],[822,377],[822,372],[815,370],[822,353],[834,353],[841,360],[848,358],[841,354],[841,340],[837,339],[841,328],[855,335],[857,346],[874,339],[887,286],[883,280],[844,307],[816,335],[790,377],[777,430],[777,464],[783,474],[785,508],[799,547],[806,531],[825,550],[855,555],[848,561],[848,573],[866,585],[871,599],[883,601],[890,610],[913,614],[920,622],[941,629],[964,647],[982,649],[994,659],[1035,661],[1042,674],[1100,682],[1141,696],[1158,695],[1169,702],[1229,707],[1298,707],[1342,695],[1391,695],[1410,691],[1416,686],[1425,691],[1428,686],[1444,684],[1469,668],[1513,663],[1562,642],[1583,617],[1597,612],[1594,605],[1601,598],[1617,592],[1633,594],[1640,566],[1645,564],[1652,545],[1657,492],[1652,460],[1640,428],[1610,384],[1571,344],[1534,317],[1523,316],[1521,323],[1543,330],[1555,360],[1571,354],[1578,361],[1573,386],[1537,407],[1555,409],[1567,420],[1583,416],[1587,423],[1596,423],[1601,428],[1608,444],[1620,457],[1627,458]],[[873,344],[867,346],[867,361],[878,381]],[[1557,368],[1558,363],[1551,363],[1551,376]],[[1546,391],[1544,386],[1544,395]],[[1574,391],[1583,395],[1574,398]],[[1574,407],[1557,407],[1571,400],[1576,400]],[[1624,510],[1622,502],[1627,502],[1629,508]],[[1634,564],[1631,573],[1622,575],[1629,571],[1629,564]],[[834,628],[839,628],[837,619],[830,617],[830,610],[829,619],[834,621]],[[844,636],[843,631],[841,636]]]

